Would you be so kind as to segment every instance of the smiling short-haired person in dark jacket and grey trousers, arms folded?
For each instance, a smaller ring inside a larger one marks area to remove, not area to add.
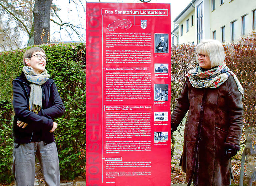
[[[35,155],[45,183],[60,185],[59,160],[53,132],[54,118],[64,105],[53,79],[47,73],[42,48],[30,48],[23,56],[22,73],[13,80],[13,173],[17,186],[34,185]]]

